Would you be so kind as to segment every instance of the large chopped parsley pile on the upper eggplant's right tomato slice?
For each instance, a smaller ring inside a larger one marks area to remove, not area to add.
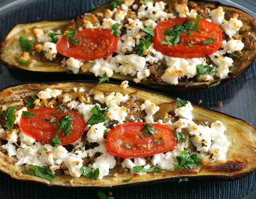
[[[163,45],[176,45],[180,42],[180,35],[184,31],[188,31],[188,35],[191,36],[193,31],[198,31],[200,22],[200,15],[198,14],[195,18],[195,22],[186,19],[183,24],[177,24],[174,28],[167,28],[164,32],[166,35],[165,39],[160,42]]]

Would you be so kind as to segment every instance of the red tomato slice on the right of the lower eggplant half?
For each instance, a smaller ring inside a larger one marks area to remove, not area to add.
[[[112,128],[107,134],[108,152],[122,158],[134,158],[163,153],[177,145],[172,129],[166,125],[150,124],[156,131],[155,136],[143,136],[142,138],[141,130],[145,124],[147,123],[132,122]],[[159,145],[154,141],[160,137],[162,140]],[[130,148],[126,148],[125,143],[128,143]]]

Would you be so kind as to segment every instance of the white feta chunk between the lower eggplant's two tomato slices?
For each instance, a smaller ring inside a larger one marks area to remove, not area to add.
[[[102,142],[104,140],[104,131],[107,128],[104,126],[104,122],[92,125],[87,132],[88,142]]]

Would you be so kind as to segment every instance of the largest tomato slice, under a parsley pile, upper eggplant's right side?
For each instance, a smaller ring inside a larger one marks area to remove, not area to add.
[[[193,31],[193,34],[189,36],[187,31],[184,31],[183,34],[180,35],[180,42],[176,45],[160,44],[161,41],[165,40],[166,35],[164,35],[164,32],[167,28],[174,28],[177,24],[183,24],[186,19],[191,20],[187,17],[183,17],[158,23],[154,29],[154,48],[167,56],[189,59],[205,57],[205,55],[212,54],[221,47],[221,28],[214,23],[202,19],[200,20],[198,28],[200,32]],[[205,40],[211,37],[214,38],[215,41],[210,44],[202,45]],[[188,43],[192,43],[193,46],[189,47]]]

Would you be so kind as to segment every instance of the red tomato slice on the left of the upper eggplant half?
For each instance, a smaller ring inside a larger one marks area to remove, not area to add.
[[[117,38],[109,29],[95,28],[77,31],[75,39],[81,42],[72,45],[67,37],[61,37],[57,43],[57,50],[66,57],[79,60],[96,60],[108,57],[117,47]]]

